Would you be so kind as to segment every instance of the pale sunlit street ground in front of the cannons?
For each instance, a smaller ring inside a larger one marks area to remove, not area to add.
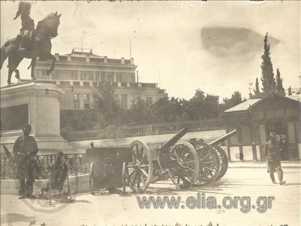
[[[109,194],[107,191],[96,195],[80,194],[73,203],[47,205],[46,200],[19,200],[16,195],[1,195],[1,224],[3,225],[103,225],[103,224],[203,224],[213,225],[300,225],[300,168],[285,168],[286,185],[272,184],[264,168],[229,168],[218,182],[188,190],[177,189],[170,180],[151,184],[143,195],[127,193]],[[276,174],[275,174],[276,177]],[[276,177],[277,178],[277,177]],[[222,205],[226,196],[249,196],[250,206],[256,204],[259,196],[274,196],[272,207],[265,213],[256,208],[242,213],[238,208],[221,209],[195,208],[186,206],[186,198],[204,192],[206,198],[214,196]],[[181,197],[178,209],[140,209],[137,196]],[[64,200],[62,199],[62,202]],[[182,208],[184,205],[184,209]],[[44,225],[44,224],[43,224]]]

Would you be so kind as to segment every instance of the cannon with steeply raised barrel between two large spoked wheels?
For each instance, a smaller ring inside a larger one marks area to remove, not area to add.
[[[161,174],[168,173],[173,183],[180,188],[194,184],[199,172],[197,151],[189,142],[179,141],[187,132],[188,129],[183,128],[160,148],[152,151],[139,140],[130,144],[133,161],[126,164],[126,177],[134,192],[143,192],[150,182],[158,179],[159,171]]]

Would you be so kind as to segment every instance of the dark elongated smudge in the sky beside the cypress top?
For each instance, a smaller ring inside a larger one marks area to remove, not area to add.
[[[246,28],[205,27],[201,40],[205,50],[216,57],[235,56],[262,51],[264,36]],[[271,46],[280,41],[268,36]]]

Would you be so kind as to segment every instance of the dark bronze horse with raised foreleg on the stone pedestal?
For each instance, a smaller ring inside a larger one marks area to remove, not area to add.
[[[20,62],[24,59],[32,59],[30,66],[31,67],[31,78],[32,80],[37,80],[35,77],[35,66],[37,57],[39,57],[40,61],[52,60],[52,65],[49,70],[47,70],[46,75],[50,75],[50,73],[54,69],[54,65],[56,62],[56,58],[51,54],[51,39],[57,37],[58,35],[58,27],[60,25],[60,17],[62,14],[58,15],[58,13],[49,14],[42,21],[40,21],[35,30],[35,39],[33,45],[30,46],[29,51],[25,55],[21,55],[18,52],[21,36],[18,35],[16,38],[8,40],[3,47],[1,47],[1,67],[2,69],[3,63],[7,58],[9,58],[9,76],[8,76],[8,84],[11,84],[11,77],[13,72],[16,73],[15,77],[18,79],[18,83],[20,80],[20,73],[17,69]]]

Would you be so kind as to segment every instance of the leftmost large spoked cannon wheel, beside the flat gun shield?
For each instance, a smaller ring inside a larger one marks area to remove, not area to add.
[[[125,165],[125,176],[128,186],[135,193],[143,192],[153,177],[153,159],[145,143],[135,140],[131,142],[132,162]]]

